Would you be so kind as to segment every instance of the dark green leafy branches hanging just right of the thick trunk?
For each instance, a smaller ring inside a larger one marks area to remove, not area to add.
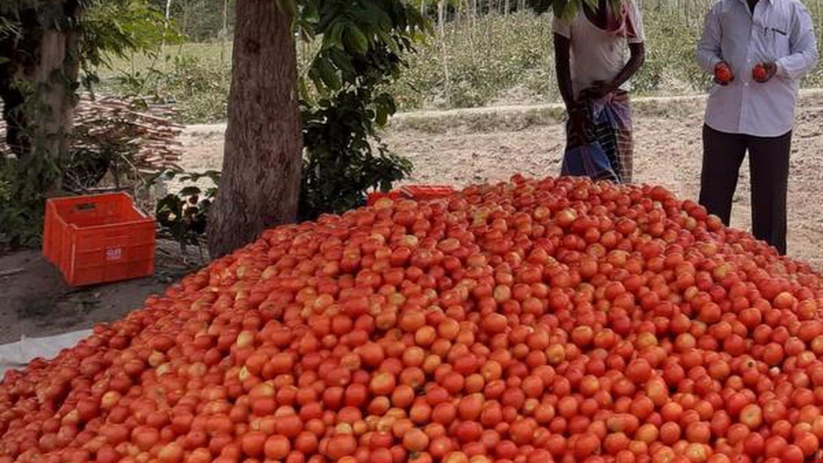
[[[313,49],[299,75],[305,157],[300,217],[341,213],[369,189],[390,189],[412,165],[388,150],[378,130],[395,113],[385,91],[404,55],[431,31],[400,0],[277,0]]]

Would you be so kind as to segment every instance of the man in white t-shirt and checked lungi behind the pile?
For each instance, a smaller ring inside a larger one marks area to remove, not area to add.
[[[618,180],[632,181],[631,111],[627,82],[644,62],[643,19],[633,0],[615,12],[580,2],[577,12],[555,12],[557,82],[569,115],[567,147],[597,142]]]

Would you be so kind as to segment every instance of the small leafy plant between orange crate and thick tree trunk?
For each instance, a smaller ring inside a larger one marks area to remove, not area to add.
[[[208,209],[217,194],[220,184],[219,171],[185,172],[165,171],[160,173],[165,180],[177,179],[188,184],[177,193],[166,194],[157,202],[155,218],[158,235],[176,241],[180,253],[188,255],[188,246],[197,246],[202,260],[202,245],[206,243]],[[201,188],[199,180],[212,180],[213,186]]]

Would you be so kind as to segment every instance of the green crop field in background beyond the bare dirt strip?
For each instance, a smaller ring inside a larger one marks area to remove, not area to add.
[[[709,77],[695,64],[694,48],[706,0],[644,2],[647,61],[632,79],[636,95],[704,92]],[[807,2],[823,44],[823,0]],[[455,16],[458,18],[459,16]],[[409,55],[409,67],[392,91],[400,110],[447,110],[558,100],[551,13],[497,13],[450,21]],[[311,47],[298,44],[300,61]],[[229,42],[166,46],[162,56],[115,60],[101,70],[104,91],[174,101],[186,123],[225,118],[230,86]],[[823,87],[823,66],[803,82]]]

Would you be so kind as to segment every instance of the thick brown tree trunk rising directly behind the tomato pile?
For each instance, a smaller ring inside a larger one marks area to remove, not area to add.
[[[302,139],[291,18],[272,0],[238,0],[220,189],[209,220],[212,258],[293,222]]]

